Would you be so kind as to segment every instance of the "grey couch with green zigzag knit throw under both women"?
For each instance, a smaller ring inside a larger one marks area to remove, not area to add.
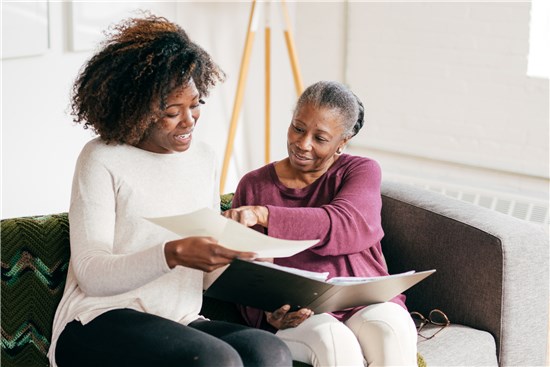
[[[415,186],[384,182],[384,256],[391,273],[436,269],[407,307],[445,312],[419,338],[428,366],[542,366],[548,338],[549,244],[539,226]],[[222,196],[222,210],[231,196]],[[69,261],[67,213],[1,221],[2,366],[47,366],[51,323]],[[242,322],[231,304],[203,314]]]

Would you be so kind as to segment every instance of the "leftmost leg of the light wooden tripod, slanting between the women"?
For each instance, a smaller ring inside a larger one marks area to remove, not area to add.
[[[229,125],[229,134],[227,136],[227,145],[225,147],[225,155],[223,159],[223,166],[220,180],[220,192],[224,191],[225,182],[227,180],[227,171],[229,168],[229,161],[233,152],[233,142],[235,141],[235,133],[237,131],[237,121],[241,112],[241,106],[243,102],[244,88],[246,85],[246,77],[248,74],[248,65],[250,63],[250,54],[252,51],[252,44],[254,42],[254,35],[257,28],[257,15],[256,0],[252,2],[252,8],[250,10],[250,18],[248,20],[248,30],[246,34],[246,41],[244,45],[243,57],[241,60],[241,67],[239,71],[239,80],[237,83],[237,92],[235,93],[235,101],[233,104],[233,113],[231,115],[231,123]]]

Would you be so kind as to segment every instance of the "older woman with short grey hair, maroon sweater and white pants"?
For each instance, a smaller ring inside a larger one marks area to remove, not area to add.
[[[343,153],[363,117],[362,103],[342,84],[313,84],[288,128],[288,157],[240,181],[227,217],[273,237],[321,239],[275,263],[329,277],[388,274],[380,246],[380,167]],[[288,310],[243,308],[243,314],[250,325],[275,332],[295,360],[314,366],[416,365],[416,329],[403,295],[330,314]]]

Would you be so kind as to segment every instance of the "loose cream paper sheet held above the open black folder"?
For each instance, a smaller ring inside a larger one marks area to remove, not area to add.
[[[181,237],[210,236],[218,240],[221,246],[235,251],[255,252],[259,258],[292,256],[319,242],[269,237],[209,208],[189,214],[145,219]]]

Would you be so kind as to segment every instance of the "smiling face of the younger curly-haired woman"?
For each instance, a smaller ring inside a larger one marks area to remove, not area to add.
[[[185,152],[200,117],[200,95],[193,80],[168,95],[166,108],[137,147],[162,154]]]

